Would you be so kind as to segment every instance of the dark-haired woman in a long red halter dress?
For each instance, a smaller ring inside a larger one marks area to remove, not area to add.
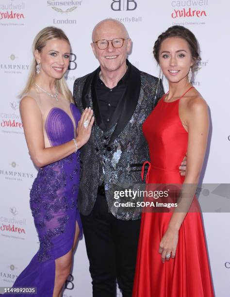
[[[158,37],[153,53],[169,91],[143,124],[150,154],[147,183],[180,184],[182,210],[143,212],[133,297],[213,297],[194,197],[209,132],[207,104],[190,83],[200,59],[197,40],[188,29],[173,26]],[[182,177],[178,168],[184,155],[187,169]],[[190,199],[183,198],[186,188]]]

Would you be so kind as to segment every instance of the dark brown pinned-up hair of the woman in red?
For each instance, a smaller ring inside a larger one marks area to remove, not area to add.
[[[196,71],[197,70],[197,62],[201,60],[200,55],[199,55],[199,47],[198,47],[198,42],[197,38],[195,35],[187,28],[183,26],[172,26],[169,27],[165,32],[161,33],[157,40],[155,41],[154,47],[153,47],[153,55],[154,58],[156,59],[157,63],[159,64],[159,54],[160,54],[160,48],[162,45],[162,42],[164,39],[169,38],[169,37],[179,37],[187,41],[192,58],[194,60],[194,64],[192,66],[192,70]]]

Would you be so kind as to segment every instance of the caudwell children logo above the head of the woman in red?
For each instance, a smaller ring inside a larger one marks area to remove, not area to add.
[[[174,8],[171,13],[171,17],[173,19],[177,19],[177,18],[179,18],[180,20],[184,18],[204,19],[204,17],[207,16],[206,6],[208,6],[208,0],[172,1],[171,6]],[[205,24],[205,22],[191,22],[191,23],[185,23],[184,25],[189,25],[189,24],[194,24],[194,25]]]

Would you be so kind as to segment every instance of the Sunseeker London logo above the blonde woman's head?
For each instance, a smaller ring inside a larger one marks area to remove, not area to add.
[[[82,1],[57,1],[49,0],[47,5],[56,13],[62,16],[71,16],[78,6],[82,5]],[[53,18],[53,24],[77,24],[76,18]]]

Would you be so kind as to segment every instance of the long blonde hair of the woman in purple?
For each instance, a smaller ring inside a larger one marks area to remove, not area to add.
[[[35,36],[33,41],[33,62],[31,65],[26,86],[24,90],[19,94],[20,98],[25,96],[30,91],[30,89],[34,86],[34,83],[35,83],[36,64],[37,64],[34,57],[35,50],[37,49],[39,52],[41,52],[41,50],[46,46],[47,42],[54,38],[66,40],[70,45],[70,42],[66,34],[61,29],[56,27],[46,27],[42,29],[39,33],[37,33],[37,35]],[[73,96],[67,86],[64,76],[60,80],[56,80],[56,87],[58,89],[58,92],[63,94],[65,99],[67,99],[68,101],[73,100]]]

